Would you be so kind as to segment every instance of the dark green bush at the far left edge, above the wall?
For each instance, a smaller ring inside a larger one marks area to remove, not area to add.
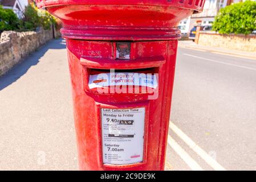
[[[20,20],[17,15],[10,9],[3,9],[0,6],[0,32],[4,30],[17,30]]]

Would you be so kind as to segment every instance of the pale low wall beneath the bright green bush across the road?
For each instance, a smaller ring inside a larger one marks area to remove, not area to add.
[[[198,44],[240,51],[256,51],[256,35],[221,35],[216,32],[200,31]]]

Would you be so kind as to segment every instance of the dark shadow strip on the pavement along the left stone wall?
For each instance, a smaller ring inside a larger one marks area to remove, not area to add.
[[[38,51],[31,53],[31,55],[25,57],[20,63],[14,65],[5,75],[0,77],[0,90],[11,85],[13,82],[17,81],[22,75],[30,69],[30,67],[39,63],[41,57],[48,51],[48,49],[65,49],[66,43],[63,39],[55,39],[51,42],[44,44],[39,47]]]

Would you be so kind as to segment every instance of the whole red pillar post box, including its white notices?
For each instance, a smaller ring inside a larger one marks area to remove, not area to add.
[[[82,170],[163,170],[180,20],[205,0],[37,0],[63,22]]]

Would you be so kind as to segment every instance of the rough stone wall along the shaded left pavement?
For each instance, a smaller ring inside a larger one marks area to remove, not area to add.
[[[52,38],[52,30],[2,32],[0,38],[0,76]]]

